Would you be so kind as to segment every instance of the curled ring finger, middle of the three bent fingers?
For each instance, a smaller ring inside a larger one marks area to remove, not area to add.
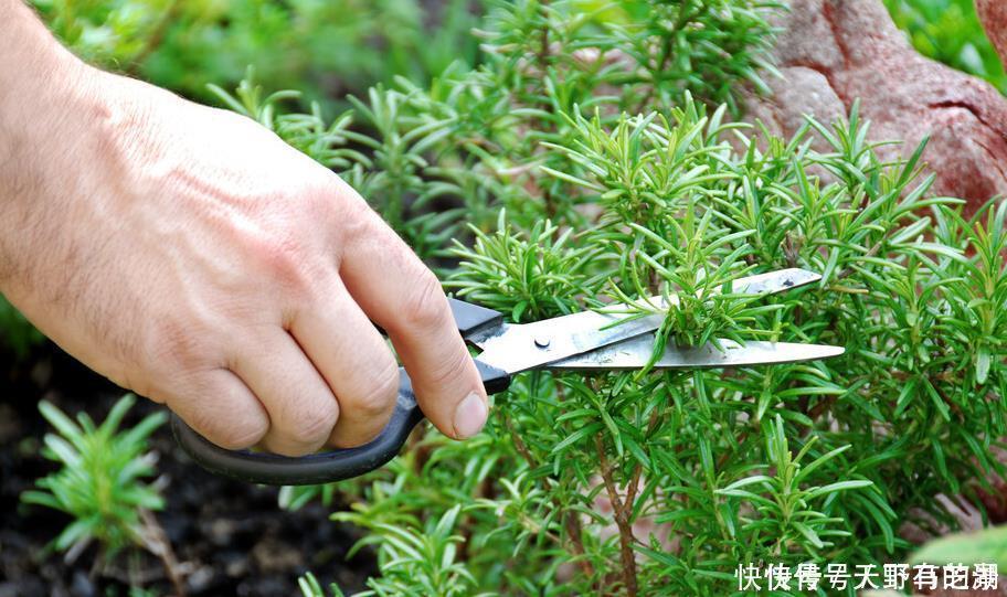
[[[245,342],[232,370],[265,406],[269,430],[263,447],[303,456],[322,447],[339,417],[336,396],[283,328]]]

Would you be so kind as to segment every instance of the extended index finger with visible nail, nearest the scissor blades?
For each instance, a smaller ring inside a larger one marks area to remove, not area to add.
[[[362,217],[340,264],[347,288],[389,333],[431,423],[458,439],[477,434],[486,391],[441,282],[374,212]]]

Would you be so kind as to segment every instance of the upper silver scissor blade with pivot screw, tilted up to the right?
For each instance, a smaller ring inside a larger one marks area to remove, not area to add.
[[[732,284],[736,294],[774,294],[820,279],[818,274],[791,268],[739,278]],[[672,302],[677,300],[672,297]],[[660,297],[651,298],[662,306]],[[617,311],[618,305],[611,307]],[[664,313],[632,319],[625,312],[582,311],[524,324],[502,324],[475,333],[466,340],[483,349],[477,356],[486,364],[509,374],[554,363],[660,328]],[[646,361],[645,361],[646,362]]]

